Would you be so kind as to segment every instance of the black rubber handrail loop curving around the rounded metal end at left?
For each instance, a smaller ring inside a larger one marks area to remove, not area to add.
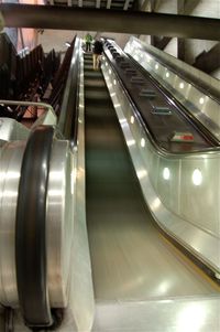
[[[19,303],[28,326],[53,323],[46,274],[46,194],[54,129],[40,126],[21,167],[15,225]]]

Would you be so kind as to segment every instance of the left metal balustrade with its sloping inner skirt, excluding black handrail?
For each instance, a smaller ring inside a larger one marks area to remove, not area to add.
[[[50,110],[46,115],[48,114]],[[38,119],[37,124],[40,122],[42,124],[42,119]],[[37,124],[34,124],[34,126]],[[85,214],[82,63],[78,124],[78,142],[74,151],[70,152],[68,141],[54,139],[46,208],[50,301],[53,308],[67,307],[62,329],[67,325],[67,331],[70,326],[73,332],[90,331],[95,311]],[[55,122],[51,125],[55,125]],[[13,144],[14,150],[12,149]],[[25,142],[4,143],[2,140],[0,147],[0,303],[18,307],[14,221],[18,184]],[[16,173],[12,167],[16,168]],[[7,236],[6,233],[8,233]],[[14,330],[22,332],[28,330],[19,309],[14,318]]]

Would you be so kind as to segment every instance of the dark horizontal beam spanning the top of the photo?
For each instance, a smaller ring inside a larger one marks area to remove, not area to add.
[[[148,12],[2,3],[6,26],[220,40],[220,20]],[[62,19],[63,18],[63,19]]]

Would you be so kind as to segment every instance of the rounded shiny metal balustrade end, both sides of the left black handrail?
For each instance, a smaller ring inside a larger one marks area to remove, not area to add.
[[[18,188],[25,141],[0,151],[0,303],[18,307],[14,232]],[[73,239],[73,164],[67,141],[54,140],[47,189],[47,274],[52,307],[65,307]],[[33,174],[34,176],[34,174]]]

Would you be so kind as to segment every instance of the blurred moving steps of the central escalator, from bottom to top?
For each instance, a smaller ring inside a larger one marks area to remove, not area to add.
[[[86,60],[86,202],[96,300],[219,294],[155,227],[102,79]]]

